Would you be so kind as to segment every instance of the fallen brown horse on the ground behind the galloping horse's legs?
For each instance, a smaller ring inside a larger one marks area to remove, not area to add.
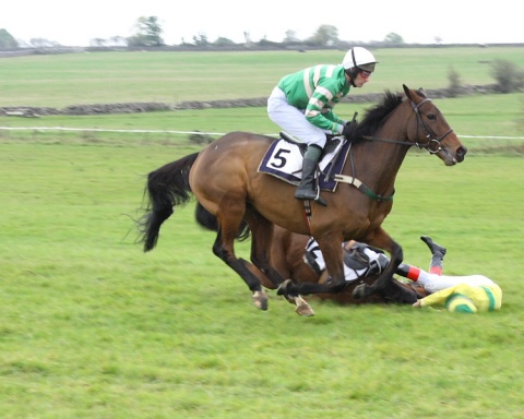
[[[322,275],[317,274],[303,260],[306,243],[309,236],[298,235],[286,230],[279,226],[274,227],[273,240],[271,242],[270,261],[284,278],[289,278],[294,283],[324,283],[327,279],[327,272]],[[347,249],[344,248],[344,252]],[[361,303],[407,303],[412,304],[417,299],[426,297],[428,294],[424,287],[413,284],[404,284],[395,278],[382,291],[371,296],[356,299],[353,290],[361,283],[372,284],[378,275],[370,275],[361,279],[350,282],[343,291],[337,294],[318,294],[322,300],[332,300],[341,304],[361,304]],[[271,283],[263,282],[262,285],[273,289]]]

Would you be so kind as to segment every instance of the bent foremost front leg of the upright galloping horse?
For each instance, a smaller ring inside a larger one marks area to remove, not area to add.
[[[382,228],[380,228],[373,238],[368,241],[368,244],[388,251],[390,253],[390,262],[374,283],[371,285],[360,284],[355,287],[353,290],[353,297],[356,299],[369,297],[376,292],[384,290],[389,285],[391,285],[393,283],[393,275],[404,259],[402,247]]]

